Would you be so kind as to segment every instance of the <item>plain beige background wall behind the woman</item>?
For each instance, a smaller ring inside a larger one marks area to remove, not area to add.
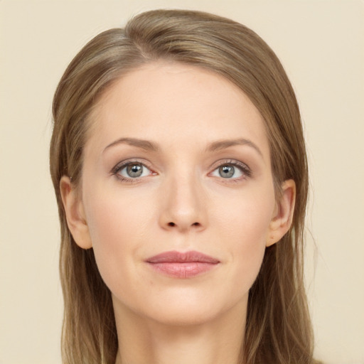
[[[309,149],[316,355],[363,364],[364,2],[348,0],[0,0],[0,364],[60,363],[59,228],[48,176],[55,86],[92,36],[158,7],[234,18],[281,58]]]

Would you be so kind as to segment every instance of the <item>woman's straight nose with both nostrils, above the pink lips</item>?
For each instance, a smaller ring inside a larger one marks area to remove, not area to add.
[[[161,191],[159,224],[165,230],[202,231],[208,224],[206,198],[193,176],[171,178]]]

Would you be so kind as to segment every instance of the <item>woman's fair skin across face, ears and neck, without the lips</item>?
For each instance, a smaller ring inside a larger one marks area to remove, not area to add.
[[[289,229],[295,198],[291,180],[276,198],[258,110],[220,75],[158,62],[114,83],[91,122],[81,186],[64,176],[60,187],[70,231],[93,247],[112,292],[117,363],[237,363],[249,289],[265,248]],[[143,175],[117,170],[122,161],[143,164]],[[221,165],[234,174],[221,176]],[[171,250],[219,263],[181,279],[145,262]]]

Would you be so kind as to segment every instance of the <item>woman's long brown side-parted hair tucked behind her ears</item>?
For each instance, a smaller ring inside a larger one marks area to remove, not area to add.
[[[65,302],[64,363],[114,364],[117,331],[109,289],[90,250],[75,244],[60,198],[60,178],[82,178],[88,115],[112,82],[153,60],[197,65],[223,75],[250,97],[264,117],[276,193],[296,182],[291,229],[268,247],[250,289],[242,363],[315,363],[304,288],[306,150],[299,107],[277,56],[256,33],[227,18],[198,11],[157,10],[132,18],[87,43],[68,66],[53,100],[50,173],[61,228],[60,277]]]

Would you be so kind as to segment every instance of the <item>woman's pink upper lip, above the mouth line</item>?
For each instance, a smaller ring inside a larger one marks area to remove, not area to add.
[[[202,263],[210,263],[217,264],[220,263],[220,260],[210,257],[209,255],[205,255],[201,252],[196,252],[191,250],[190,252],[163,252],[158,255],[154,255],[146,259],[148,263],[187,263],[187,262],[202,262]]]

